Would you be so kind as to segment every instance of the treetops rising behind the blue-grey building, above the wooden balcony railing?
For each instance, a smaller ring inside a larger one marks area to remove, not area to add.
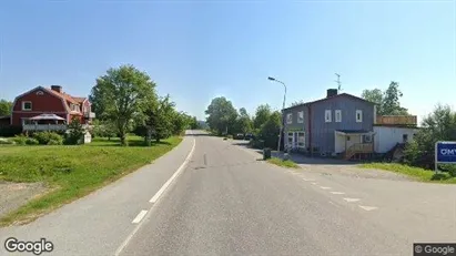
[[[407,109],[402,107],[399,99],[403,93],[399,91],[399,84],[392,81],[386,91],[379,89],[364,90],[362,98],[377,104],[378,115],[408,115]]]

